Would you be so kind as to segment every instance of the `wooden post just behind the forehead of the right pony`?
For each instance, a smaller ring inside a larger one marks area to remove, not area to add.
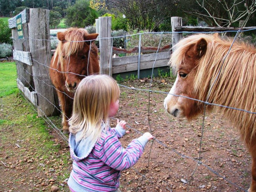
[[[172,32],[174,32],[175,26],[182,26],[182,18],[181,17],[171,17],[172,23]],[[172,52],[175,50],[175,45],[181,40],[181,33],[172,33]],[[172,68],[172,75],[177,76],[175,69]]]

